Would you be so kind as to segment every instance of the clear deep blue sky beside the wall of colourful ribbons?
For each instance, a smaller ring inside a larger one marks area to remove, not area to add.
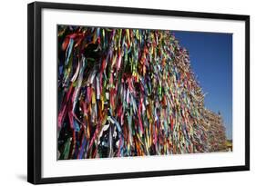
[[[220,111],[232,139],[232,34],[173,31],[189,51],[192,71],[204,93],[205,106]]]

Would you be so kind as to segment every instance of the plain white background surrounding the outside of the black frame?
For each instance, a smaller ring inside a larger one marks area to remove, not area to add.
[[[26,183],[26,4],[30,1],[3,1],[0,9],[0,185],[28,185]],[[72,1],[56,1],[72,2]],[[251,15],[251,72],[255,72],[255,18],[253,1],[138,1],[87,0],[76,3],[94,5],[135,6],[185,11]],[[73,1],[74,3],[74,1]],[[251,73],[254,82],[256,73]],[[251,95],[256,93],[251,83]],[[251,96],[251,113],[256,111],[256,100]],[[228,172],[161,178],[131,179],[123,181],[93,181],[63,185],[243,185],[255,181],[255,114],[251,114],[251,171]],[[58,184],[57,184],[58,185]]]

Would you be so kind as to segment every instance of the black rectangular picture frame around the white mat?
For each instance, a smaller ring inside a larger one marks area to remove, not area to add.
[[[240,20],[245,22],[245,165],[185,169],[175,171],[143,171],[42,178],[41,175],[41,32],[42,9],[110,12],[138,15],[165,15],[209,19]],[[114,7],[100,5],[76,5],[35,2],[27,5],[27,181],[34,184],[69,181],[99,181],[140,177],[169,176],[180,174],[210,173],[250,170],[250,16],[209,14],[198,12]]]

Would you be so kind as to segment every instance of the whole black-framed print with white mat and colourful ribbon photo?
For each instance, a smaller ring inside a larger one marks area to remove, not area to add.
[[[250,16],[28,5],[27,180],[250,170]]]

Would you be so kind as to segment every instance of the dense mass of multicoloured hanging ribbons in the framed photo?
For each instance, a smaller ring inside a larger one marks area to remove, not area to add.
[[[225,149],[171,31],[58,25],[57,53],[58,160]]]

